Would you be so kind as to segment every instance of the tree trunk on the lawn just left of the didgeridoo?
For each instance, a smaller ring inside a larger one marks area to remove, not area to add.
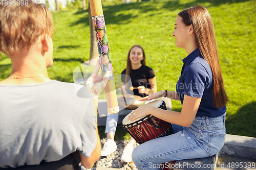
[[[92,60],[92,59],[98,58],[99,52],[98,52],[98,44],[96,41],[96,35],[95,35],[95,31],[94,31],[90,3],[89,3],[89,7],[88,7],[88,14],[89,14],[90,34],[91,34],[90,65],[96,65],[97,60]]]

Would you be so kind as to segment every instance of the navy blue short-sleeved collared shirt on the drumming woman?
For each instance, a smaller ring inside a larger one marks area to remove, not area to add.
[[[181,105],[184,94],[202,98],[196,116],[218,117],[223,115],[227,108],[217,108],[212,100],[212,72],[209,64],[199,53],[198,48],[183,60],[181,76],[176,84]]]

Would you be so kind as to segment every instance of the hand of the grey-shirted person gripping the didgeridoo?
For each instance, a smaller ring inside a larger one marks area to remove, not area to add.
[[[86,82],[86,87],[88,87],[91,90],[93,96],[100,95],[100,93],[105,88],[106,83],[108,82],[108,80],[110,78],[110,73],[111,73],[110,71],[105,72],[103,79],[102,79],[102,72],[101,72],[100,76],[98,76],[99,69],[100,69],[100,63],[98,60],[92,75],[88,78],[88,80]]]

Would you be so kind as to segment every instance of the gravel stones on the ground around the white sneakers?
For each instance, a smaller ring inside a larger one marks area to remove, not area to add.
[[[101,139],[101,148],[105,143],[106,139]],[[117,144],[117,150],[111,153],[108,156],[100,157],[98,161],[98,167],[112,167],[112,168],[124,168],[129,170],[138,170],[133,162],[121,162],[121,156],[123,153],[123,149],[125,145],[128,143],[127,141],[115,140]],[[136,148],[139,144],[136,142],[134,144],[134,148]]]

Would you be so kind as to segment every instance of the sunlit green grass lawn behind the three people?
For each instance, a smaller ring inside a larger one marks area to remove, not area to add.
[[[140,44],[146,53],[146,64],[155,70],[158,90],[175,90],[186,52],[175,47],[172,37],[178,12],[205,6],[215,24],[221,68],[226,92],[226,128],[228,134],[256,137],[256,1],[187,0],[150,1],[104,6],[103,13],[109,38],[114,74],[126,66],[131,46]],[[73,82],[73,70],[90,57],[88,12],[68,10],[54,12],[56,35],[53,44],[54,65],[48,69],[50,78]],[[0,80],[8,77],[11,62],[0,57]],[[173,110],[181,104],[173,101]],[[99,129],[104,137],[104,127]],[[127,134],[119,130],[117,138]]]

